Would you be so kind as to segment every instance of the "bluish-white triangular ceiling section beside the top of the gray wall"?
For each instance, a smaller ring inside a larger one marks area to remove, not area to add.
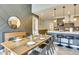
[[[32,13],[40,12],[48,8],[54,8],[58,4],[32,4]]]

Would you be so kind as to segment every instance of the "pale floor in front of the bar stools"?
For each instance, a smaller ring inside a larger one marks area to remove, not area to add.
[[[79,50],[76,49],[68,49],[66,47],[58,47],[56,48],[56,55],[79,55]]]

